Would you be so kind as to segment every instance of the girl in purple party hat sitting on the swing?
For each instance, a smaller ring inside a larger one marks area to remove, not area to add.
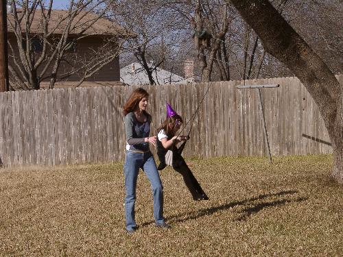
[[[177,114],[167,103],[167,119],[163,124],[158,127],[158,140],[157,145],[157,156],[160,160],[158,170],[164,169],[167,165],[174,168],[175,171],[180,173],[185,181],[189,192],[194,200],[208,200],[209,197],[204,193],[200,184],[194,177],[193,173],[187,166],[185,159],[181,156],[180,151],[176,144],[180,141],[189,139],[189,136],[177,136],[176,133],[182,125],[182,118]]]

